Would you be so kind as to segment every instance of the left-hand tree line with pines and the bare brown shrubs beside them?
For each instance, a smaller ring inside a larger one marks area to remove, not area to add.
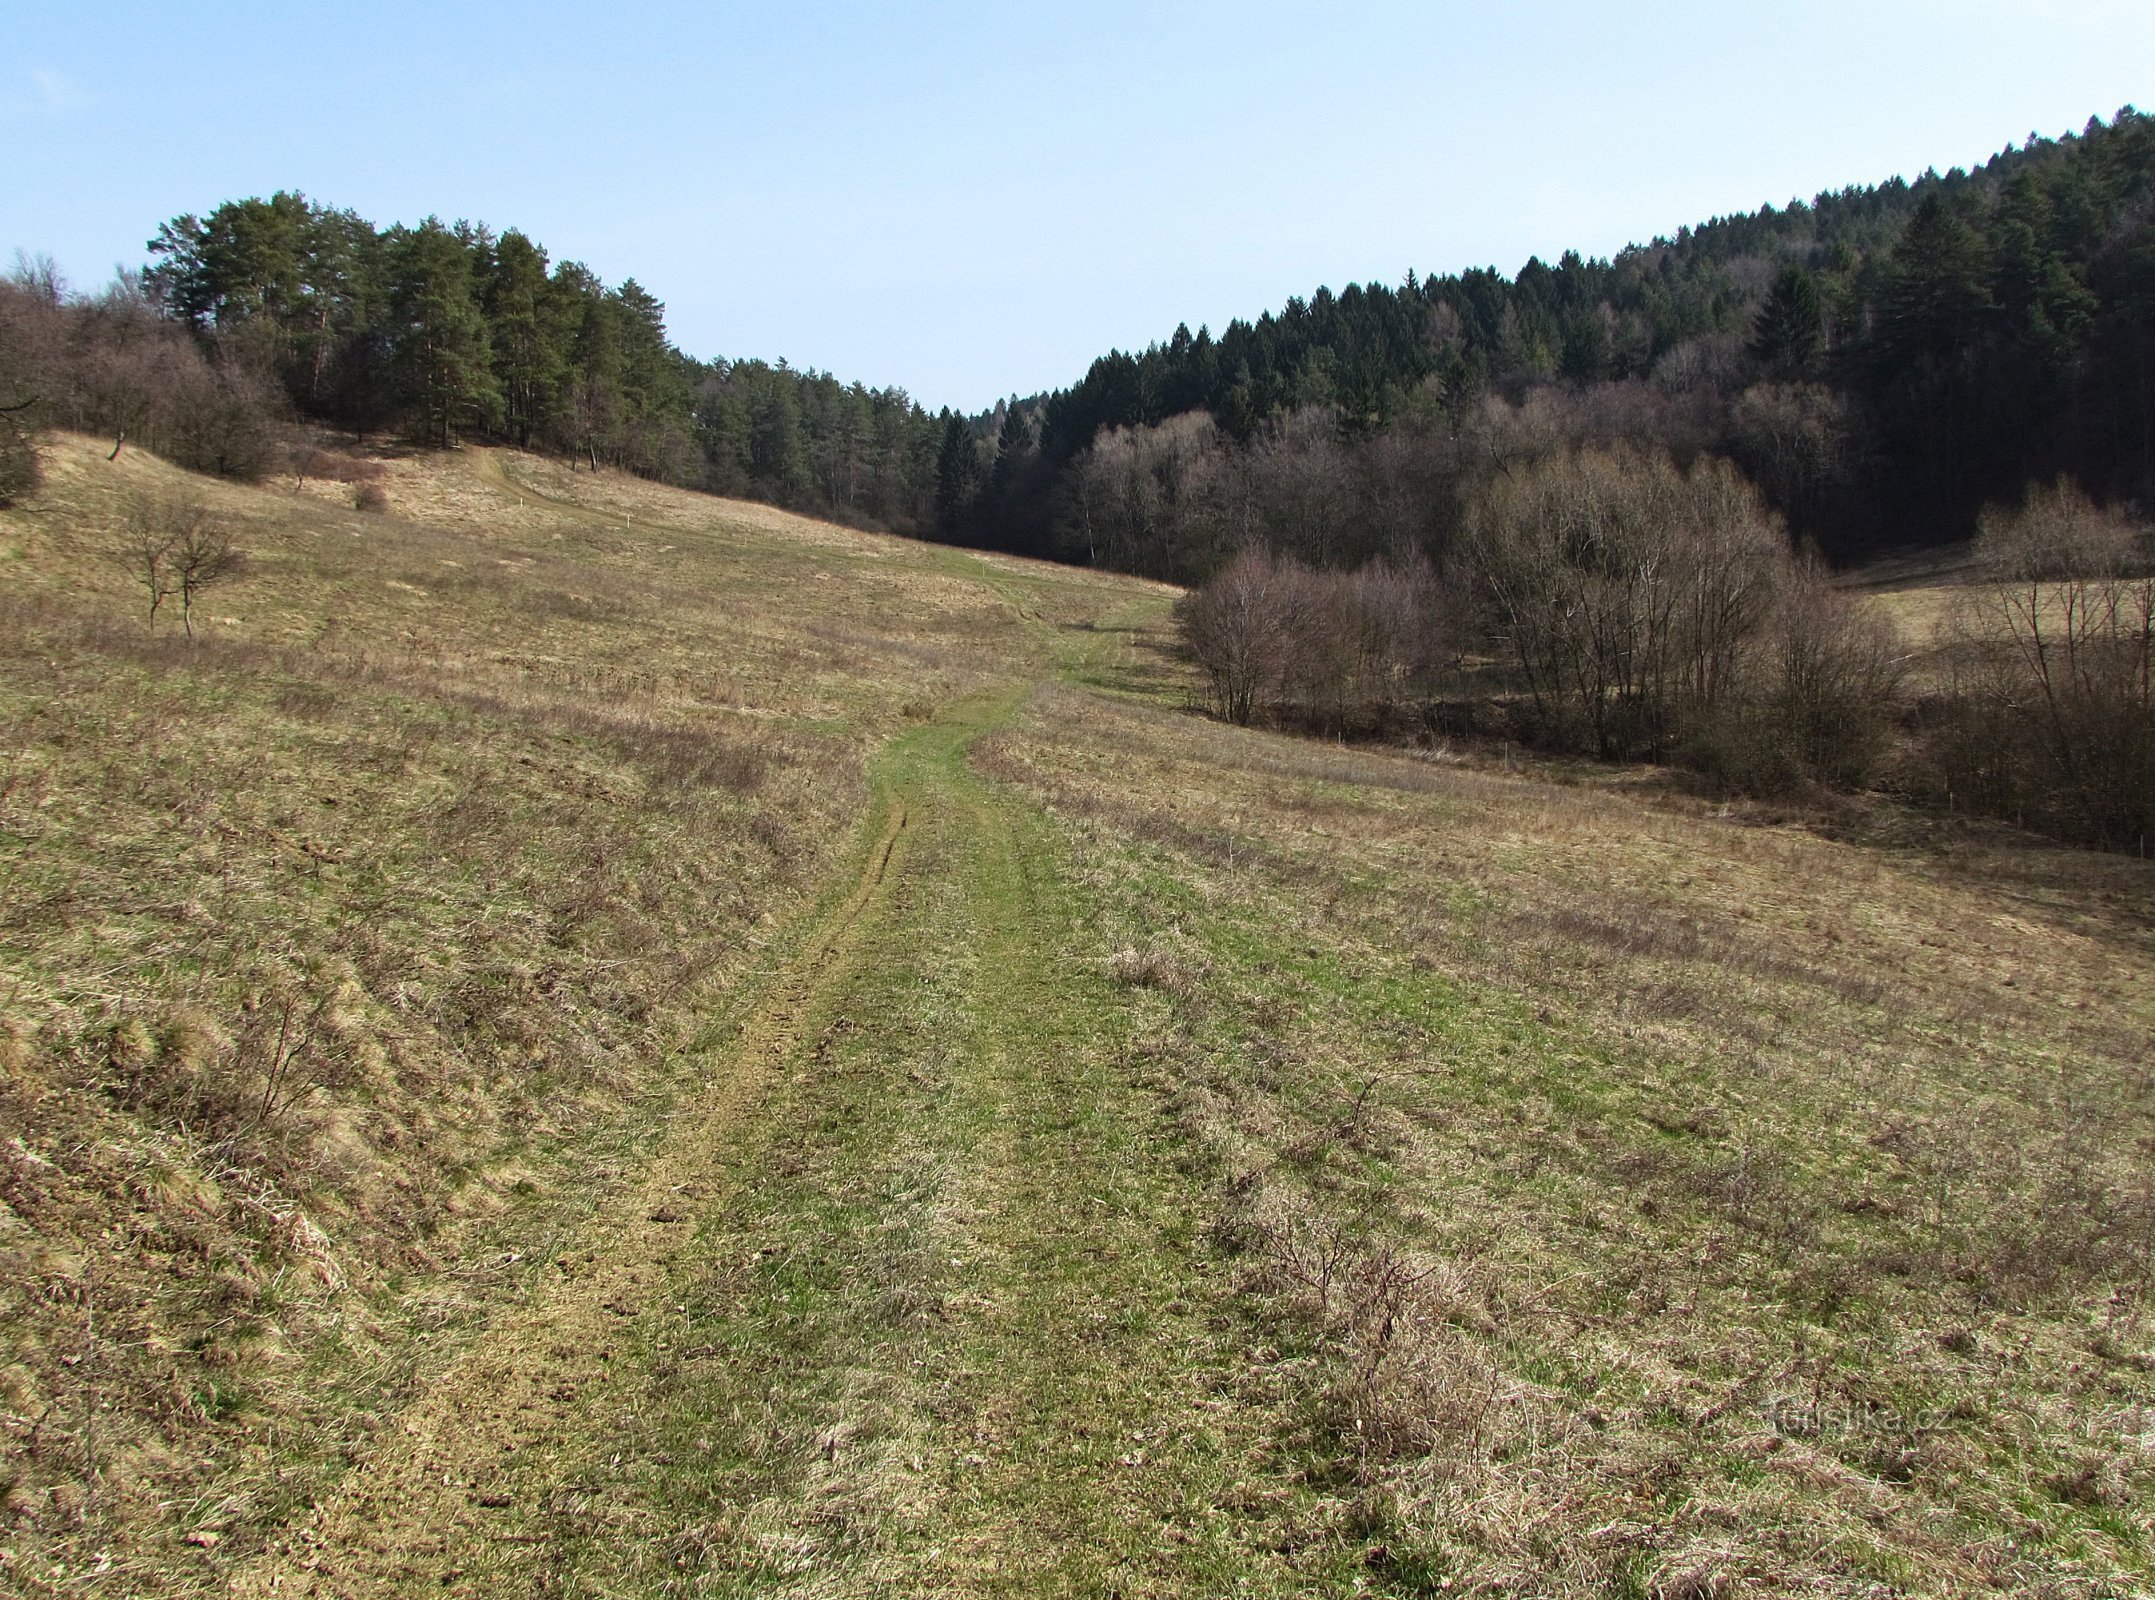
[[[0,285],[0,405],[24,405],[0,412],[0,455],[17,477],[34,423],[252,477],[306,420],[500,440],[903,530],[935,522],[948,414],[782,360],[694,360],[634,278],[608,287],[515,229],[381,229],[280,192],[172,218],[149,254],[95,295],[32,261]]]

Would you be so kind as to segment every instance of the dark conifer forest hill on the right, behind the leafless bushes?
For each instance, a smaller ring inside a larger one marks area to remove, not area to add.
[[[1248,537],[1442,556],[1517,440],[1726,457],[1843,561],[1965,539],[2060,474],[2146,500],[2155,123],[2125,108],[1612,261],[1319,289],[1011,410],[1019,453],[983,436],[946,524],[1185,582]]]

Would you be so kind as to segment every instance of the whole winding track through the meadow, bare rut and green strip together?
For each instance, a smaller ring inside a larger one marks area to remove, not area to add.
[[[1037,673],[1127,649],[950,561]],[[1291,1421],[1194,1249],[1090,899],[968,759],[1030,688],[877,755],[853,873],[692,1048],[640,1184],[231,1591],[1306,1591],[1302,1492],[1254,1488]]]

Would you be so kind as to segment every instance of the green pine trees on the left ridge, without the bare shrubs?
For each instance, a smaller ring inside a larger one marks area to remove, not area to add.
[[[302,194],[151,239],[149,300],[351,433],[506,440],[685,487],[924,528],[946,418],[905,390],[675,349],[666,306],[517,233],[377,229]]]

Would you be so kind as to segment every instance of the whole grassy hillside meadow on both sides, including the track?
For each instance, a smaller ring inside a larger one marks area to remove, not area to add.
[[[24,1594],[2129,1594],[2155,873],[511,453],[0,518]]]

